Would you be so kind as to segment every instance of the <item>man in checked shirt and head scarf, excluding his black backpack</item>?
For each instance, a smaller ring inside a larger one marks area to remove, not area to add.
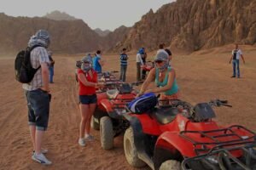
[[[42,149],[44,131],[48,127],[49,120],[49,32],[39,30],[28,42],[30,58],[28,60],[32,68],[37,69],[31,82],[23,83],[26,91],[28,107],[28,124],[33,144],[32,160],[44,165],[50,165],[44,154],[48,150]],[[15,63],[16,65],[16,63]]]

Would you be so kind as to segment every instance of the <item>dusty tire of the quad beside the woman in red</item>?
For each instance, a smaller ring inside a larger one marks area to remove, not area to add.
[[[104,150],[113,148],[113,123],[109,116],[103,116],[100,121],[101,144]]]

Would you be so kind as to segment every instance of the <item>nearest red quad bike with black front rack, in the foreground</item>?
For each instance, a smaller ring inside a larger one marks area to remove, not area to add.
[[[128,113],[124,137],[126,160],[133,167],[154,170],[256,169],[256,134],[240,125],[221,127],[212,121],[213,100],[195,106],[181,100],[156,106],[151,113]]]

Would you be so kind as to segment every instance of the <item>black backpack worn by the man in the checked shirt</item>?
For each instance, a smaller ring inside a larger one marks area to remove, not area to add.
[[[41,65],[37,69],[34,69],[31,64],[30,54],[33,48],[40,46],[33,46],[32,48],[26,48],[20,51],[15,59],[15,78],[18,82],[28,83],[31,82],[34,75],[41,68]]]

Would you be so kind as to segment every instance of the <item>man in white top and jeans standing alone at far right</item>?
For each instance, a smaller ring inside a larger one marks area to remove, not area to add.
[[[232,65],[233,65],[233,76],[231,78],[234,78],[237,76],[237,78],[240,78],[240,69],[239,69],[239,59],[241,56],[241,59],[243,61],[243,64],[245,64],[245,60],[243,58],[243,55],[241,53],[241,49],[238,48],[238,44],[235,44],[235,49],[232,50],[232,55],[230,58],[230,63],[232,61]],[[237,74],[236,74],[236,70],[237,70]]]

